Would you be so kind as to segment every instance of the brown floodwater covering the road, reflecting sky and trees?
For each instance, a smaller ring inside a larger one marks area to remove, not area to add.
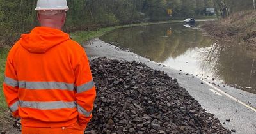
[[[128,27],[111,31],[100,40],[182,70],[182,74],[256,93],[256,52],[205,36],[198,26],[173,23]]]

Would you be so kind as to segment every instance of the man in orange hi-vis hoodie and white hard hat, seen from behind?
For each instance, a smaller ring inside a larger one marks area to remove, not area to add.
[[[22,133],[83,133],[96,92],[84,49],[61,28],[66,0],[38,0],[38,20],[6,61],[3,91]]]

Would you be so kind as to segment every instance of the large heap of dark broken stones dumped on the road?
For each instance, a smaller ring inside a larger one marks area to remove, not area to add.
[[[230,133],[163,71],[106,58],[91,68],[97,99],[86,133]]]

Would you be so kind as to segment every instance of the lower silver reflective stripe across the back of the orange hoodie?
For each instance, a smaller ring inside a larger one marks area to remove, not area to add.
[[[75,108],[76,102],[63,102],[63,101],[51,101],[51,102],[32,102],[32,101],[20,101],[20,107],[33,108],[39,110],[56,110],[62,108]]]

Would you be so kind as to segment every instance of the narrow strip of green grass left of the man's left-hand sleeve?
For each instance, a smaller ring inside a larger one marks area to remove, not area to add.
[[[8,55],[10,48],[1,48],[0,47],[0,112],[3,113],[4,110],[7,110],[6,101],[3,94],[3,81],[4,81],[4,70],[6,57]]]

